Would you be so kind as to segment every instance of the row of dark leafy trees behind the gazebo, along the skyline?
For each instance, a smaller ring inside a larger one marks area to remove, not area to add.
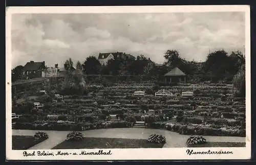
[[[142,54],[136,60],[116,58],[108,61],[106,65],[93,56],[86,58],[81,64],[76,64],[76,69],[82,70],[84,74],[132,74],[148,75],[159,77],[167,73],[170,69],[178,67],[187,75],[203,74],[218,77],[233,77],[241,66],[245,64],[245,56],[240,51],[233,51],[228,54],[224,50],[217,50],[208,54],[203,63],[186,61],[180,57],[177,50],[167,50],[164,54],[165,63],[159,67],[151,59]],[[73,66],[71,59],[65,63],[65,69],[69,70]]]

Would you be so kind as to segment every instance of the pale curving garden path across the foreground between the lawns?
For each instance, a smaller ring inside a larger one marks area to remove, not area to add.
[[[38,130],[12,130],[13,135],[34,135]],[[30,149],[51,149],[66,139],[70,131],[45,131],[49,134],[49,139],[41,142]],[[179,134],[162,129],[148,128],[109,128],[109,129],[92,129],[81,131],[87,137],[109,137],[109,138],[126,138],[126,139],[147,139],[151,134],[162,134],[166,138],[164,148],[185,147],[189,135]],[[233,136],[204,136],[208,142],[243,142],[245,137]]]

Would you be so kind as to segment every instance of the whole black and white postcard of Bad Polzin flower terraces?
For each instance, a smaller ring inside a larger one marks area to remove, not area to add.
[[[6,13],[8,160],[250,159],[249,6]]]

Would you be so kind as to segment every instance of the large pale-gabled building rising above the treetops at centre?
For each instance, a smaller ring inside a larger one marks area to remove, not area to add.
[[[117,58],[122,58],[122,59],[132,59],[135,60],[136,58],[132,56],[131,54],[126,54],[123,52],[109,52],[109,53],[99,53],[98,56],[98,61],[100,62],[101,65],[106,65],[108,64],[109,60],[114,60]]]

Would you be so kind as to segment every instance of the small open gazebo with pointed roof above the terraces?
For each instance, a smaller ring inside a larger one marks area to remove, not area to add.
[[[185,73],[183,73],[178,67],[176,67],[164,75],[165,83],[185,83],[186,76],[187,75]]]

